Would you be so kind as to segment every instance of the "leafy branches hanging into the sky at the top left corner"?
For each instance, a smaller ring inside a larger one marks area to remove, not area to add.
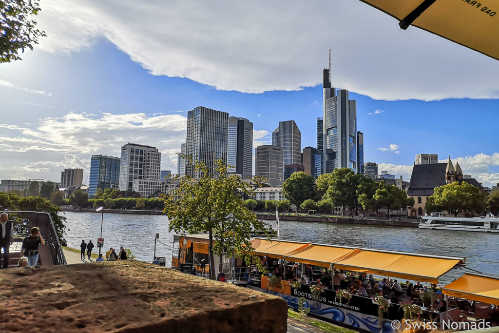
[[[41,8],[37,0],[6,0],[0,2],[0,63],[20,60],[19,50],[33,49],[38,38],[46,36],[35,28],[31,19]]]

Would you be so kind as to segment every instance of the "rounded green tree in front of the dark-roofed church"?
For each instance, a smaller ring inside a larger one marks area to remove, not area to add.
[[[467,182],[454,182],[436,187],[433,195],[428,197],[425,205],[427,212],[447,211],[454,216],[461,213],[478,213],[485,211],[486,194],[478,187]]]

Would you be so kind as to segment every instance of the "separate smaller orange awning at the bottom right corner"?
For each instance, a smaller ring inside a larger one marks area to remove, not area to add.
[[[443,287],[442,293],[499,306],[499,277],[467,273]]]

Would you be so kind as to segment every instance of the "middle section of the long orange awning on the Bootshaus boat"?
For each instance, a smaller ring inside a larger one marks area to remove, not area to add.
[[[312,245],[303,251],[286,256],[286,260],[302,264],[329,267],[331,263],[344,259],[360,251],[349,247]]]

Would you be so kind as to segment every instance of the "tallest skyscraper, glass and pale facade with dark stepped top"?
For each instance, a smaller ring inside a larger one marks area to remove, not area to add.
[[[357,171],[357,107],[348,90],[331,87],[331,64],[323,72],[323,172]]]

